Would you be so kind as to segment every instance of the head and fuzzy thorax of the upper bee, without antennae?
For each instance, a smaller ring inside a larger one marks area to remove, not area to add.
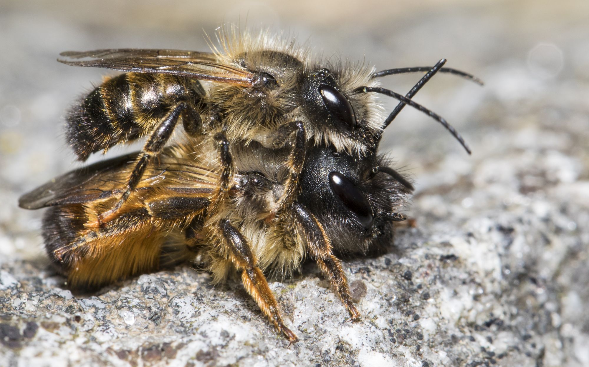
[[[382,125],[378,102],[374,95],[357,90],[375,85],[368,72],[317,68],[272,50],[241,54],[236,64],[254,75],[254,84],[211,91],[211,99],[224,111],[226,131],[259,136],[264,134],[260,131],[299,120],[315,145],[333,145],[338,152],[356,155],[374,150]]]

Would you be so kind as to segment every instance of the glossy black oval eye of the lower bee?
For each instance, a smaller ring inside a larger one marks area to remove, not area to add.
[[[372,225],[370,203],[352,181],[339,172],[333,171],[329,173],[329,186],[361,226],[369,228]]]

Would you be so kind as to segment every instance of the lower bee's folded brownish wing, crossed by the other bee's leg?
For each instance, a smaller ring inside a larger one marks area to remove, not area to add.
[[[121,195],[135,166],[137,153],[108,159],[58,176],[45,185],[25,193],[18,205],[25,209],[85,203]],[[218,175],[194,161],[162,154],[145,169],[137,191],[168,189],[177,193],[208,195]]]

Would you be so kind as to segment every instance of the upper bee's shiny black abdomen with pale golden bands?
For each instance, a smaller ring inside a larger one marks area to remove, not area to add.
[[[196,106],[204,90],[181,76],[127,73],[108,79],[74,105],[66,138],[80,161],[147,134],[176,105]]]

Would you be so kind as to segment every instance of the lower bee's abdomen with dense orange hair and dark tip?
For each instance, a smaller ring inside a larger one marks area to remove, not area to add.
[[[49,208],[44,218],[47,252],[67,276],[68,288],[92,291],[157,271],[163,256],[166,263],[170,256],[175,256],[173,262],[190,258],[183,232],[162,230],[146,211],[121,215],[105,229],[88,226],[87,211],[82,204],[62,205]],[[72,249],[58,258],[56,250],[68,246]]]

